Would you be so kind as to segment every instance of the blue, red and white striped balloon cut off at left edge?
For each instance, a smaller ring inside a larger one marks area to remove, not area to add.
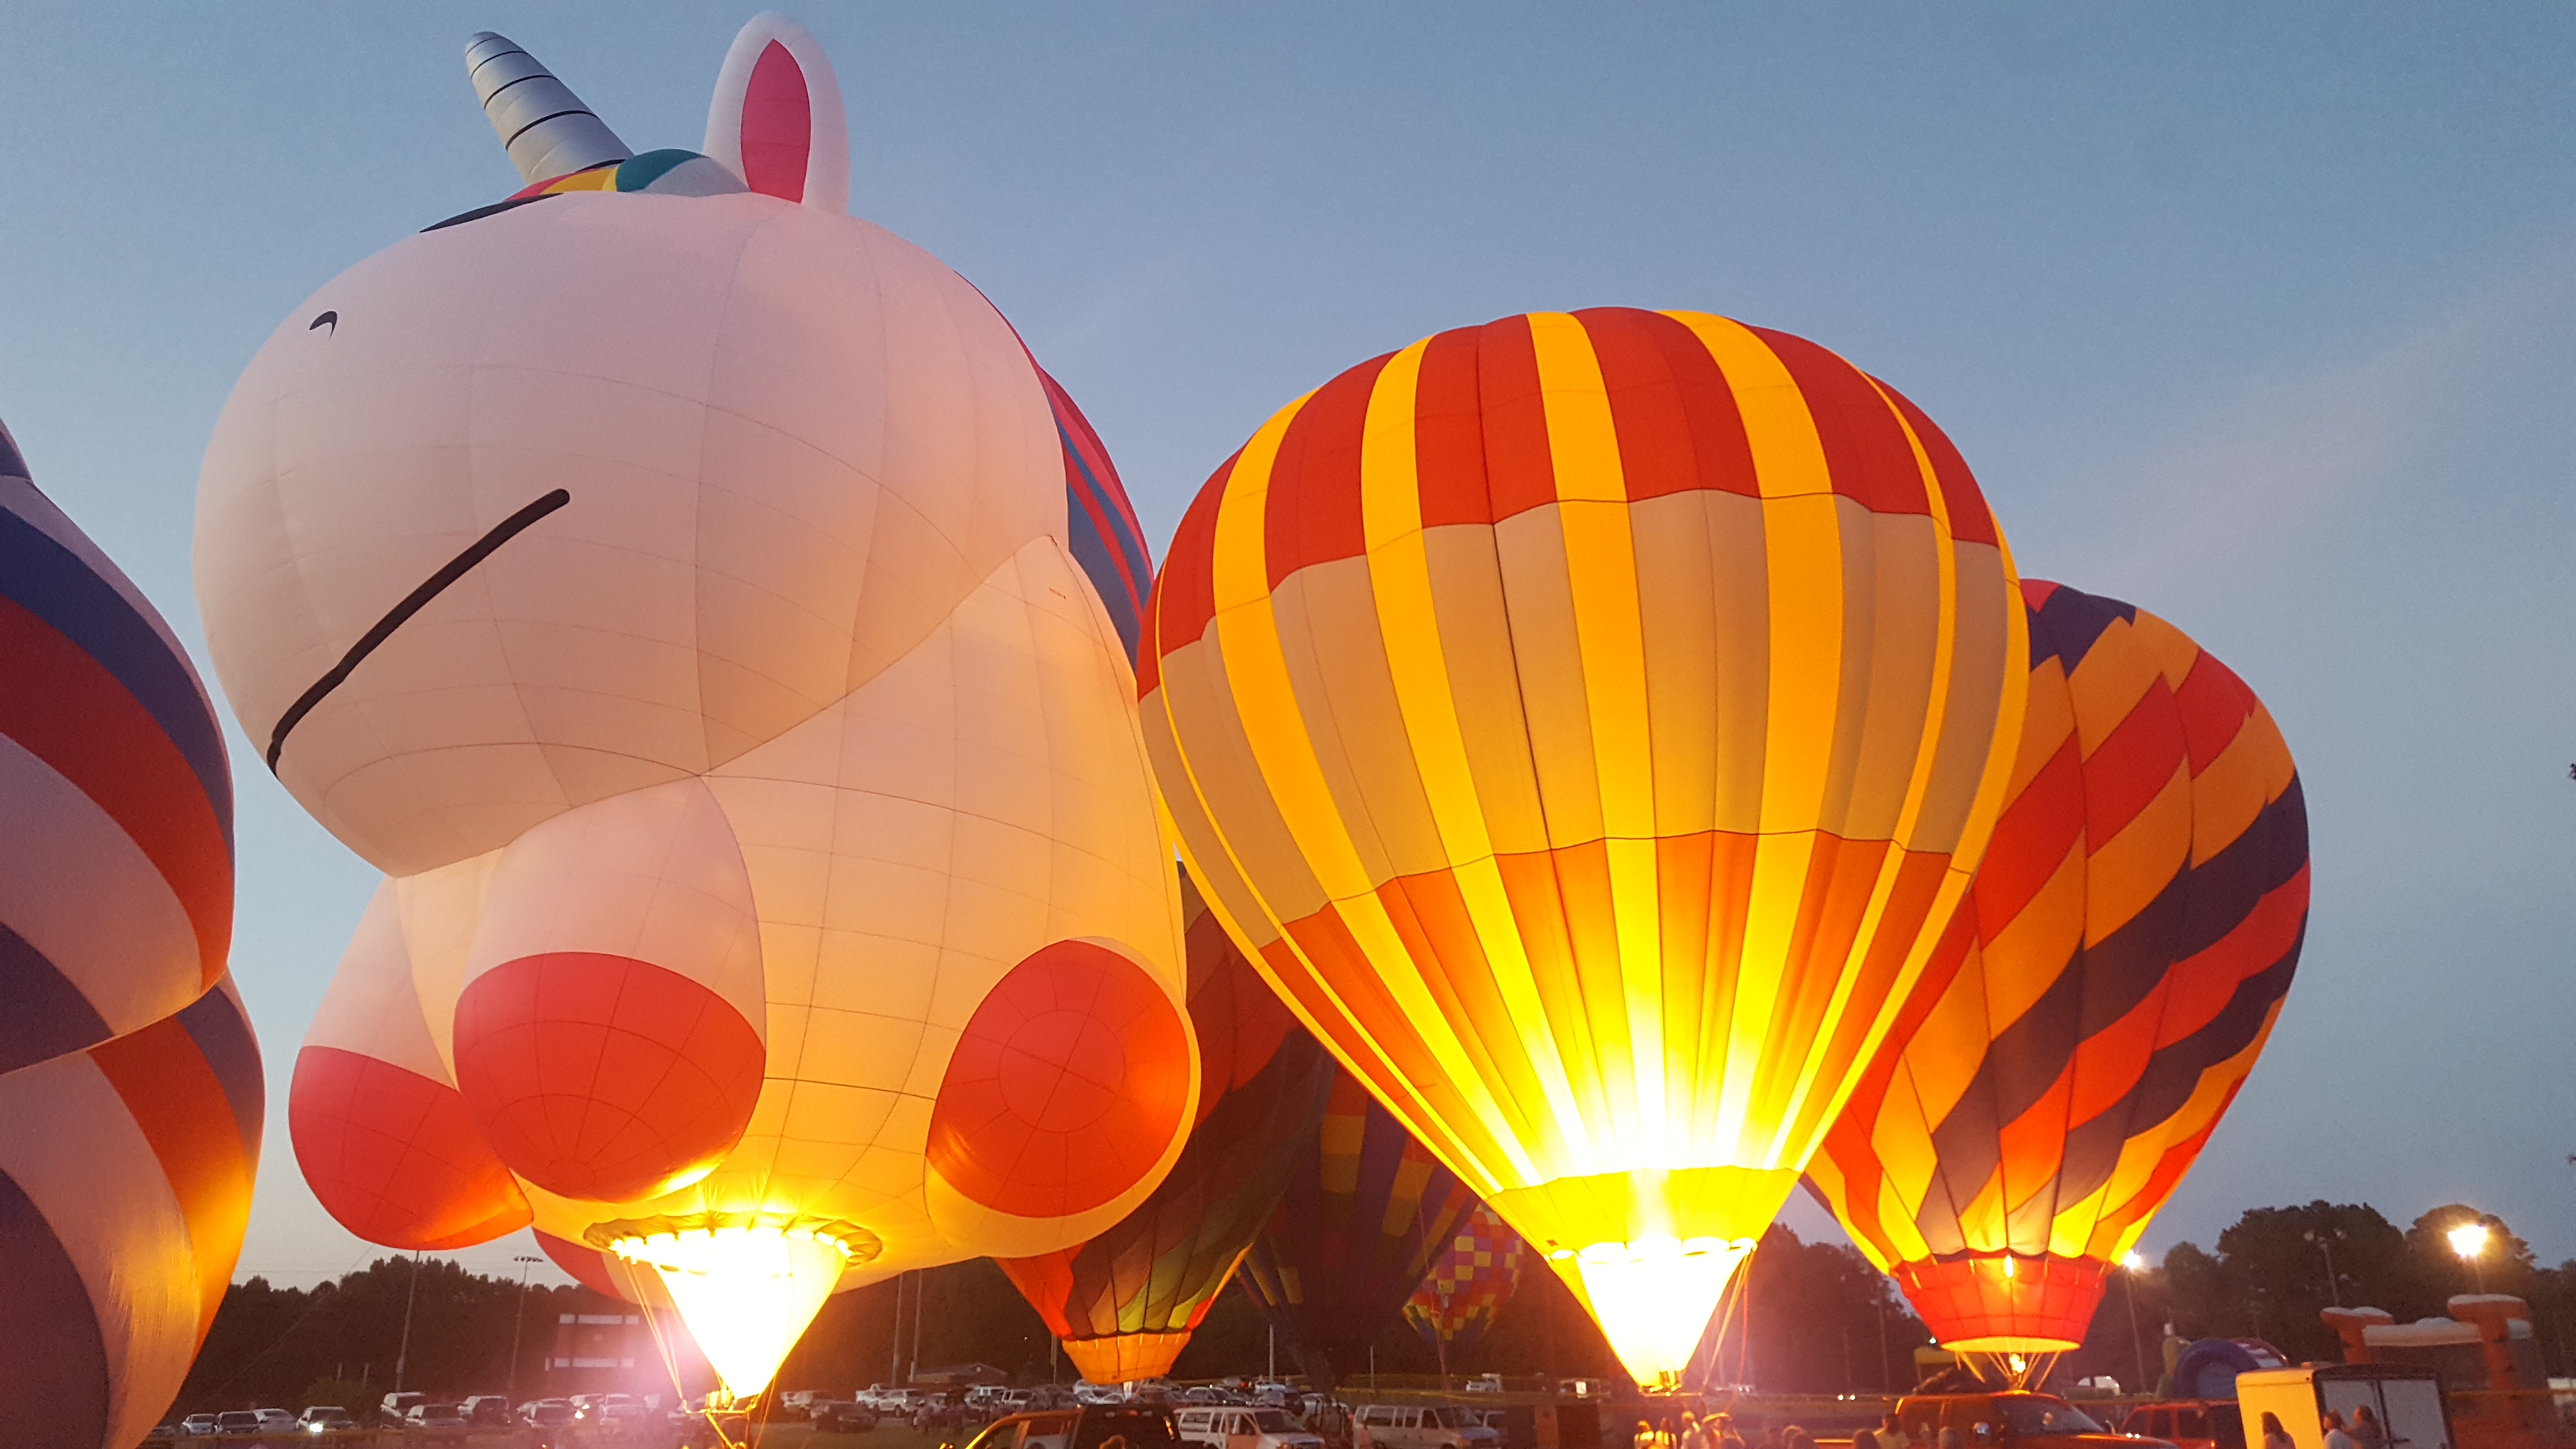
[[[232,771],[162,616],[0,428],[0,1441],[124,1449],[250,1220]]]

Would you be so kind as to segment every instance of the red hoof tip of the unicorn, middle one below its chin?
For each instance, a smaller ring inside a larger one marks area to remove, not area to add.
[[[456,1088],[492,1152],[585,1201],[714,1168],[752,1122],[765,1062],[732,1003],[629,957],[520,957],[456,1000]]]

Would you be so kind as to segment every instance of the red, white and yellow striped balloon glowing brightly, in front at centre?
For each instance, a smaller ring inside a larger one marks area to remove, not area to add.
[[[1984,851],[2012,578],[1911,402],[1698,312],[1425,338],[1180,523],[1139,688],[1190,869],[1638,1379],[1687,1361]]]

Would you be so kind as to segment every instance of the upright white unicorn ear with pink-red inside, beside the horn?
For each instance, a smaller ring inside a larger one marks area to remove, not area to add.
[[[822,44],[778,10],[752,15],[724,52],[706,108],[706,155],[752,191],[850,209],[850,124]]]

